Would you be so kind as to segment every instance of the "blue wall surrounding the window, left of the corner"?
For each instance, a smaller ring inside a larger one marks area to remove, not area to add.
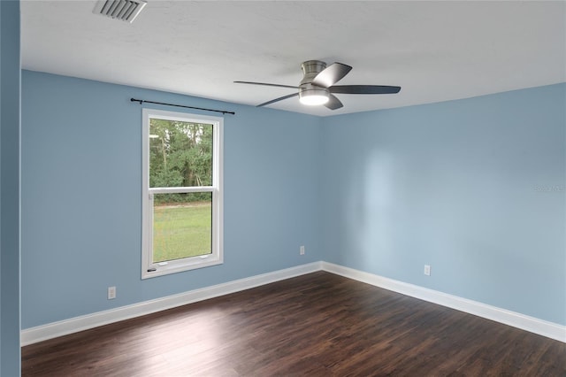
[[[236,112],[224,124],[224,265],[141,280],[142,107],[131,97]],[[22,327],[322,259],[320,123],[24,71]],[[117,287],[115,300],[106,299],[109,286]]]

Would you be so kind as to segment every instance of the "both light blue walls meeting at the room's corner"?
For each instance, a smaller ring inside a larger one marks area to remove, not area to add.
[[[317,260],[565,325],[565,91],[317,118],[24,71],[22,327]],[[224,265],[141,280],[132,96],[236,112]]]

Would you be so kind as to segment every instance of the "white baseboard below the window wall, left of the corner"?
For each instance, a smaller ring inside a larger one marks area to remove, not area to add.
[[[139,304],[122,306],[104,312],[96,312],[72,319],[65,319],[47,325],[31,327],[22,330],[20,333],[20,343],[22,346],[32,344],[34,342],[42,342],[57,336],[77,333],[88,328],[108,325],[109,323],[118,322],[124,319],[140,317],[142,315],[161,312],[180,305],[195,303],[197,301],[207,300],[209,298],[224,296],[230,293],[239,292],[245,289],[259,287],[275,281],[282,281],[303,275],[305,273],[313,273],[320,271],[322,262],[314,262],[308,265],[297,265],[295,267],[272,273],[263,273],[261,275],[251,276],[249,278],[237,281],[228,281],[203,289],[195,289],[179,295],[166,296],[155,300],[145,301]]]

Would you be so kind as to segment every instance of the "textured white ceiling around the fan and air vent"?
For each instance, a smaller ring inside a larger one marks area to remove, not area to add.
[[[338,95],[363,112],[566,81],[566,2],[156,1],[133,24],[93,14],[94,1],[21,2],[25,69],[260,104],[297,85],[301,63],[354,69],[341,85],[399,94]],[[149,99],[149,98],[148,98]]]

